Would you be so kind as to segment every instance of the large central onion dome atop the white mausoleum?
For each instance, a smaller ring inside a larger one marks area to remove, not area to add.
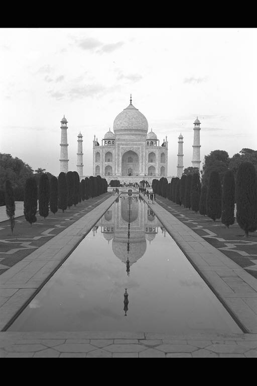
[[[119,113],[113,122],[116,135],[147,135],[148,122],[146,117],[132,103]]]

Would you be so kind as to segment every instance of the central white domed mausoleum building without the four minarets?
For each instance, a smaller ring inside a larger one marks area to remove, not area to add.
[[[117,115],[113,132],[101,140],[93,140],[93,175],[109,182],[139,182],[143,179],[167,177],[168,142],[160,140],[151,130],[148,133],[146,117],[132,105]]]

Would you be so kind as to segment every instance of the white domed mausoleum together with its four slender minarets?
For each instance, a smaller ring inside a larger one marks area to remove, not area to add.
[[[68,171],[67,120],[61,120],[60,171]],[[192,166],[200,169],[200,121],[194,122]],[[78,134],[77,172],[83,175],[82,134]],[[183,174],[183,136],[178,137],[177,176]],[[168,177],[168,141],[160,139],[156,133],[148,131],[146,117],[130,104],[119,113],[113,122],[113,131],[107,131],[101,140],[93,139],[92,175],[100,175],[109,183],[117,179],[121,183],[135,183],[145,179],[152,183],[154,178]],[[168,179],[170,179],[168,177]],[[169,181],[170,182],[170,181]]]

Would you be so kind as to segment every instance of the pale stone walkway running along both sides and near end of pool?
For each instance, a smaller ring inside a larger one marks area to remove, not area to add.
[[[2,329],[115,199],[108,198],[0,276]],[[213,292],[249,333],[180,336],[150,332],[2,331],[0,357],[257,357],[257,280],[162,206],[150,207]]]

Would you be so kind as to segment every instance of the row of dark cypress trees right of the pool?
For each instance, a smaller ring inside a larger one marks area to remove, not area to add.
[[[166,177],[153,179],[153,191],[184,208],[208,216],[213,221],[221,219],[227,228],[236,221],[245,236],[257,230],[257,172],[251,162],[238,165],[234,170],[220,172],[211,170],[208,179],[200,182],[199,171],[186,170],[181,178],[173,177],[168,183]]]

